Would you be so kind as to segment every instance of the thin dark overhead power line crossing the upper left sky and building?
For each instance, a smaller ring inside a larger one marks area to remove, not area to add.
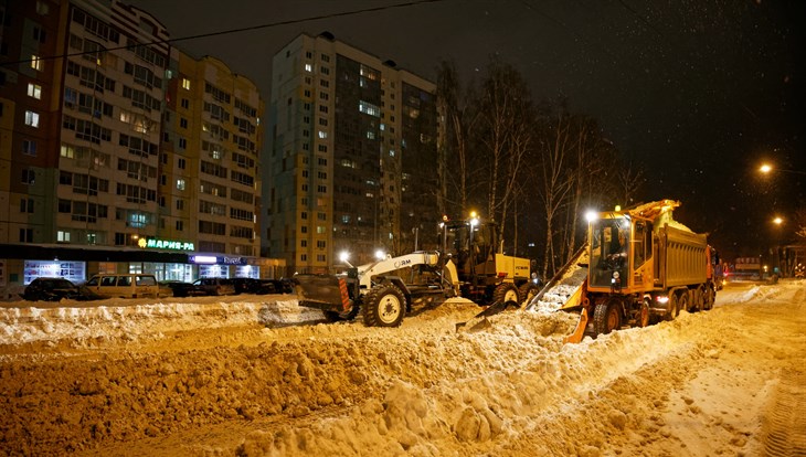
[[[397,9],[397,8],[416,7],[418,4],[438,3],[438,2],[443,2],[443,1],[447,1],[447,0],[412,0],[412,1],[403,2],[403,3],[386,4],[383,7],[363,8],[360,10],[343,11],[343,12],[337,12],[337,13],[330,13],[330,14],[311,15],[311,17],[303,18],[303,19],[289,19],[287,21],[269,22],[269,23],[265,23],[265,24],[261,24],[261,25],[251,25],[251,26],[244,26],[244,28],[240,28],[240,29],[227,29],[227,30],[221,30],[218,32],[200,33],[197,35],[181,36],[181,38],[176,38],[176,39],[155,40],[155,41],[150,41],[148,43],[137,43],[137,44],[131,44],[131,45],[105,47],[104,50],[100,50],[100,51],[98,51],[98,50],[82,51],[82,52],[57,54],[57,55],[51,55],[51,56],[38,56],[35,60],[36,61],[54,61],[57,59],[73,57],[73,56],[77,56],[77,55],[95,54],[97,52],[134,50],[136,47],[151,46],[151,45],[156,45],[156,44],[172,44],[172,43],[178,43],[181,41],[199,40],[199,39],[203,39],[203,38],[227,35],[227,34],[232,34],[232,33],[251,32],[251,31],[255,31],[255,30],[269,29],[269,28],[279,26],[279,25],[290,25],[290,24],[296,24],[296,23],[307,22],[307,21],[318,21],[318,20],[322,20],[322,19],[342,18],[342,17],[348,17],[348,15],[353,15],[353,14],[378,12],[378,11],[392,10],[392,9]],[[13,62],[3,62],[3,63],[0,63],[0,66],[19,65],[19,64],[24,64],[24,63],[31,63],[33,61],[34,61],[34,59],[23,59],[23,60],[13,61]]]

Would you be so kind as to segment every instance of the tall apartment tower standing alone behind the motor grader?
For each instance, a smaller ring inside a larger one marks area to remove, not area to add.
[[[272,78],[264,254],[320,273],[435,248],[435,85],[329,33],[284,46]]]

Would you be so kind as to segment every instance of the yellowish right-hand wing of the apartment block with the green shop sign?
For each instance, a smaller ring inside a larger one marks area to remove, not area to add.
[[[194,240],[198,252],[232,263],[199,265],[200,276],[258,277],[263,100],[252,81],[222,61],[173,54],[163,116],[162,232]]]

